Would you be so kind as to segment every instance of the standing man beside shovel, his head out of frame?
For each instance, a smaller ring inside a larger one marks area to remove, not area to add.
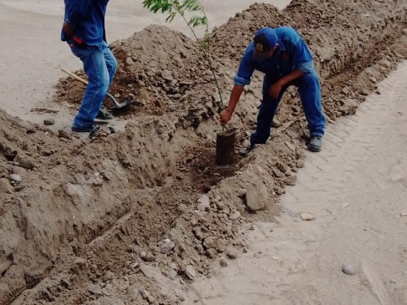
[[[65,22],[61,40],[83,63],[89,84],[83,93],[72,131],[93,132],[99,127],[95,118],[111,119],[101,111],[113,79],[117,61],[106,42],[105,14],[109,0],[65,0]]]

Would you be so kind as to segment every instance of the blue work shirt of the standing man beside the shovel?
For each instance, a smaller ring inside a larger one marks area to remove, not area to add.
[[[65,22],[75,29],[74,36],[87,45],[106,44],[105,14],[109,0],[65,0]],[[61,40],[67,41],[64,31]]]

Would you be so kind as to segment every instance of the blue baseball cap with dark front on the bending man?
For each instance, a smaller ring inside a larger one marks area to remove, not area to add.
[[[270,50],[278,43],[275,29],[264,27],[259,29],[253,38],[253,60],[263,62],[269,57]]]

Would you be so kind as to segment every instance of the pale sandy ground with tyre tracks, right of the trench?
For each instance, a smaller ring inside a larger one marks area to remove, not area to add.
[[[280,223],[255,223],[248,253],[194,283],[188,304],[407,304],[407,62],[379,90],[307,153]]]

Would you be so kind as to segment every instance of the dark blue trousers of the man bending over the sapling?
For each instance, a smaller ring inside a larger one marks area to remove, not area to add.
[[[277,99],[273,99],[269,95],[270,86],[276,82],[277,79],[268,77],[267,75],[263,81],[263,103],[257,115],[256,131],[250,137],[251,144],[265,144],[270,137],[271,123],[277,111],[278,104],[285,90],[290,85],[298,87],[301,103],[304,109],[305,118],[308,122],[308,129],[310,136],[323,136],[325,129],[325,117],[321,108],[321,87],[319,86],[318,77],[315,73],[307,73],[302,77],[293,81],[289,85],[282,88],[280,95]]]

